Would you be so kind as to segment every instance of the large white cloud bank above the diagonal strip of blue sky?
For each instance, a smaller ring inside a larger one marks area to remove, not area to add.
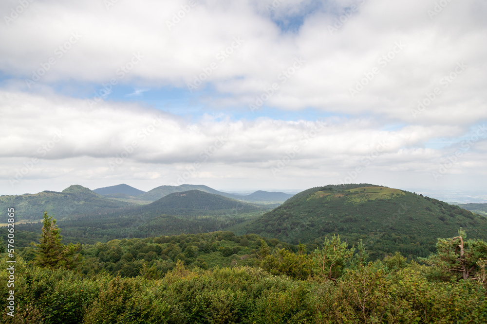
[[[215,63],[204,84],[216,89],[216,102],[231,96],[230,102],[246,106],[280,83],[281,73],[292,70],[301,57],[305,65],[280,84],[267,105],[367,113],[412,123],[486,119],[486,95],[480,91],[487,75],[486,24],[480,18],[487,13],[485,3],[450,2],[431,18],[428,10],[434,9],[434,1],[276,1],[280,4],[274,15],[303,17],[298,33],[283,33],[265,14],[275,1],[198,1],[182,14],[186,1],[119,1],[109,10],[94,0],[63,6],[55,1],[33,3],[0,29],[1,69],[32,78],[33,71],[53,57],[56,64],[41,82],[106,83],[133,53],[140,53],[143,59],[121,83],[185,88]],[[16,3],[4,1],[3,11]],[[351,11],[353,5],[358,9]],[[310,6],[315,10],[308,13]],[[54,13],[57,19],[50,18]],[[174,18],[178,14],[184,17]],[[169,30],[166,22],[172,20],[178,22]],[[73,41],[73,33],[79,40],[57,57],[58,49]],[[243,40],[242,46],[220,62],[218,54],[235,37]],[[399,43],[404,46],[397,49]],[[461,62],[468,68],[444,87],[442,78]],[[378,73],[367,80],[374,68]],[[441,96],[421,119],[414,119],[417,101],[435,87],[442,89]],[[352,96],[351,89],[358,93]],[[459,116],[467,107],[475,117]]]

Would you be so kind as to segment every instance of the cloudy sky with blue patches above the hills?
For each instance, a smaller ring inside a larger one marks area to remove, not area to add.
[[[485,0],[3,0],[0,194],[487,200],[486,16]]]

